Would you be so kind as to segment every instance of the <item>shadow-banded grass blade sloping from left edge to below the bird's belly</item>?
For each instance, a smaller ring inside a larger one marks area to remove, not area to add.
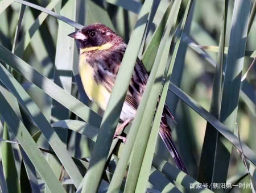
[[[48,78],[44,77],[2,45],[0,45],[0,60],[6,62],[6,64],[9,64],[11,68],[22,74],[22,76],[28,79],[28,81],[34,83],[36,86],[42,89],[44,93],[57,100],[57,102],[60,104],[63,104],[63,106],[74,112],[81,119],[96,126],[100,125],[101,117],[99,115],[90,110],[75,97],[69,95],[66,91],[61,89]]]

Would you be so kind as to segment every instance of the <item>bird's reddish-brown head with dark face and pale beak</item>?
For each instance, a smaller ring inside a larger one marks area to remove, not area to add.
[[[68,36],[78,41],[80,52],[109,49],[122,42],[121,37],[101,23],[90,24]]]

